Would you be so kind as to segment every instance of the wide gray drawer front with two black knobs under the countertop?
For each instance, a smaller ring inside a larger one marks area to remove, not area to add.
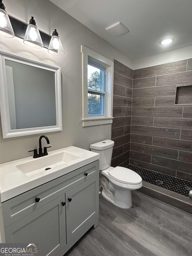
[[[2,203],[4,227],[37,210],[98,173],[99,161],[97,160]],[[39,202],[36,202],[35,198],[39,198]]]

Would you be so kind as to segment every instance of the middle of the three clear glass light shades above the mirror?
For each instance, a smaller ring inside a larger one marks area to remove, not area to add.
[[[43,41],[37,26],[29,24],[25,33],[23,43],[33,48],[43,48]]]

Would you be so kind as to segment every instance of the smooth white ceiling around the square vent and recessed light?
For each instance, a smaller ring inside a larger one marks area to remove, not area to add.
[[[131,59],[192,45],[192,0],[50,1]],[[130,32],[113,37],[105,28],[118,21]],[[159,44],[170,37],[172,44]]]

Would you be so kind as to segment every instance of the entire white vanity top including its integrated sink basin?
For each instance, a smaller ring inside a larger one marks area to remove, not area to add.
[[[69,146],[40,158],[29,156],[0,164],[0,203],[98,159],[98,153]]]

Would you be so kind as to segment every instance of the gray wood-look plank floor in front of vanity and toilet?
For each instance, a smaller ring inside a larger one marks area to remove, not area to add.
[[[192,255],[192,215],[137,191],[132,201],[121,209],[100,194],[98,227],[64,256]]]

